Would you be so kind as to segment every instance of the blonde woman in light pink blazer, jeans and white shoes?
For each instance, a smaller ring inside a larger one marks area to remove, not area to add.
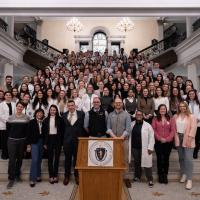
[[[195,147],[195,135],[197,119],[191,114],[188,104],[180,102],[178,112],[174,115],[176,122],[175,145],[178,150],[181,168],[180,182],[186,180],[186,189],[192,189],[193,151]]]

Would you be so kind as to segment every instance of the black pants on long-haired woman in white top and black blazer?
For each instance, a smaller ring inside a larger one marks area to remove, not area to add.
[[[48,136],[48,169],[49,177],[58,176],[59,159],[61,152],[61,145],[58,142],[57,135]]]

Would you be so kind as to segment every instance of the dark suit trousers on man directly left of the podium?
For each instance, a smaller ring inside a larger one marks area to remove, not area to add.
[[[78,141],[65,142],[63,144],[64,154],[65,154],[65,177],[70,177],[71,174],[71,165],[74,167],[74,176],[78,176],[78,170],[75,169],[77,151],[78,151]],[[72,163],[73,159],[73,163]]]

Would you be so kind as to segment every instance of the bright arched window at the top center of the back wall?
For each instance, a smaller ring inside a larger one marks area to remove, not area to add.
[[[101,54],[104,53],[107,48],[106,34],[103,32],[96,32],[93,37],[93,51],[98,51]]]

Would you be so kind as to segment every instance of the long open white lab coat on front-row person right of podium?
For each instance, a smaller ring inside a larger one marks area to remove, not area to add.
[[[135,125],[135,121],[131,123],[131,134],[129,137],[129,161],[131,160],[131,139],[132,139],[132,130]],[[141,158],[141,167],[152,167],[152,154],[148,154],[148,149],[153,151],[155,138],[154,138],[154,131],[152,126],[143,121],[142,125],[142,158]]]

